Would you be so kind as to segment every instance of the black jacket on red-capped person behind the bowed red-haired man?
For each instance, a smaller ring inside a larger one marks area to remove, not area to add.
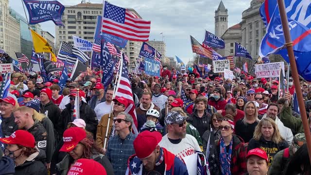
[[[46,105],[40,104],[40,111],[41,113],[46,114],[46,116],[48,116],[48,118],[51,120],[55,128],[58,127],[57,122],[60,116],[60,109],[57,105],[53,104],[52,101],[50,101]]]

